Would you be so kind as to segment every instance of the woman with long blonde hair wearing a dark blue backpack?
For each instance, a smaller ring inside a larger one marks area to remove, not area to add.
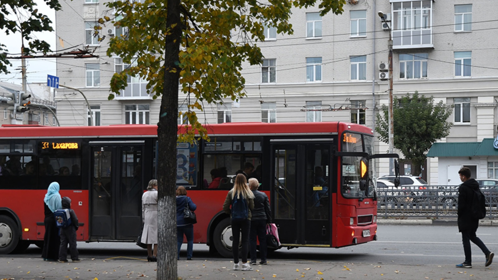
[[[232,254],[234,270],[241,270],[239,265],[239,239],[242,232],[242,270],[252,270],[248,263],[249,229],[251,210],[254,208],[254,194],[249,189],[246,176],[242,173],[235,178],[234,187],[228,192],[223,211],[230,215],[232,221]]]

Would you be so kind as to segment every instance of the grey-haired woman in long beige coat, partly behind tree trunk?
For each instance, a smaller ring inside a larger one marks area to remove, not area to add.
[[[147,244],[147,261],[157,262],[157,180],[155,179],[149,181],[147,191],[142,195],[142,220],[141,242]]]

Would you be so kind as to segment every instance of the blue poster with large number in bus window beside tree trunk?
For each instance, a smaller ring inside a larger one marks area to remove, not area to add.
[[[195,186],[197,183],[197,145],[194,143],[177,143],[176,161],[176,184]]]

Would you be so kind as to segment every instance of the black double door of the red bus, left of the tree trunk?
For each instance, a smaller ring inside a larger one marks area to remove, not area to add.
[[[140,233],[143,141],[91,141],[90,238],[133,240]]]

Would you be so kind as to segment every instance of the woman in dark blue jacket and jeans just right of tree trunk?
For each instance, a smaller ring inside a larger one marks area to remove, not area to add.
[[[192,250],[194,248],[194,225],[185,222],[183,219],[183,210],[188,205],[190,211],[195,211],[197,206],[192,199],[187,196],[187,190],[183,186],[176,189],[176,237],[178,255],[177,259],[180,260],[180,248],[183,244],[183,235],[187,238],[187,260],[192,260]]]

